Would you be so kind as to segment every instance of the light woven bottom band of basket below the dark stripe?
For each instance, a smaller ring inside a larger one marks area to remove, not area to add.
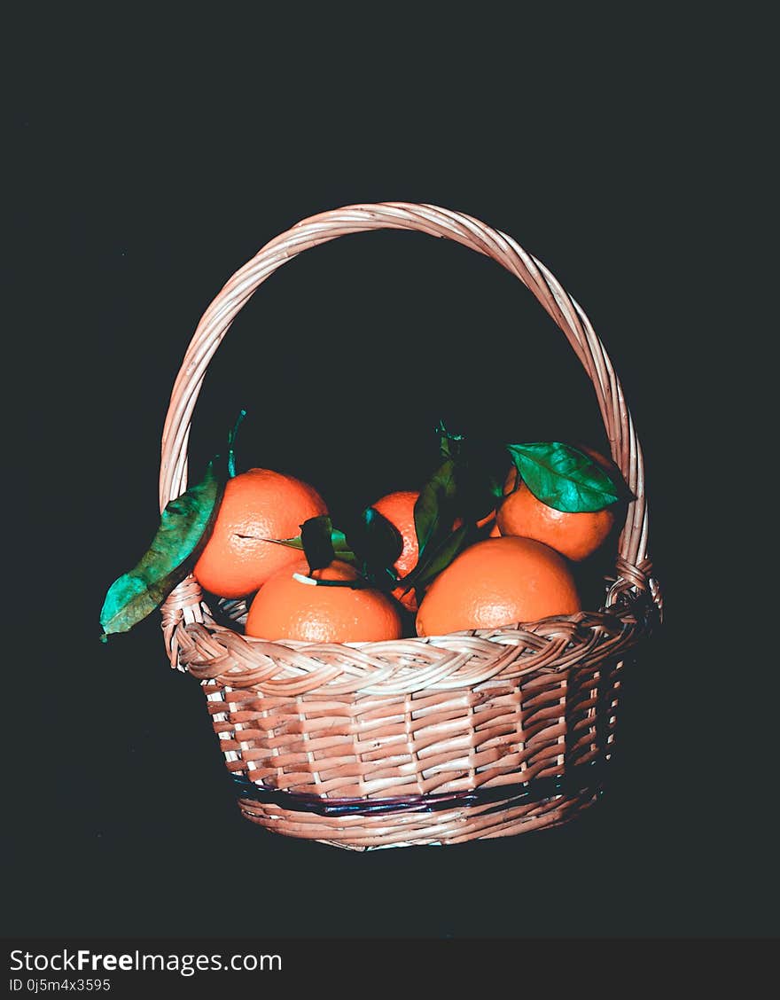
[[[557,795],[543,802],[443,809],[437,813],[398,813],[381,816],[325,817],[239,799],[241,813],[273,833],[346,850],[369,851],[385,847],[441,846],[468,840],[510,837],[558,826],[573,819],[599,797],[599,789]]]

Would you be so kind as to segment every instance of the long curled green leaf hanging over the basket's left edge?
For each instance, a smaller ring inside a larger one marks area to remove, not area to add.
[[[115,580],[100,611],[104,635],[127,632],[190,572],[211,534],[224,489],[210,462],[203,479],[171,500],[140,562]]]

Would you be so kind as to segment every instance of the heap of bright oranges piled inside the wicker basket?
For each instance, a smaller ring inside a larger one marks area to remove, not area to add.
[[[616,468],[598,452],[581,450],[602,468]],[[393,565],[399,581],[418,564],[419,496],[398,490],[372,504],[403,543]],[[324,514],[317,490],[293,476],[270,469],[235,476],[194,576],[220,597],[251,599],[246,634],[269,641],[373,642],[494,629],[579,612],[573,564],[601,549],[616,524],[613,506],[554,510],[518,482],[513,466],[497,510],[479,522],[481,541],[469,544],[423,591],[396,585],[386,592],[392,579],[381,590],[338,558],[311,572],[300,547],[276,543],[300,538],[304,522]]]

